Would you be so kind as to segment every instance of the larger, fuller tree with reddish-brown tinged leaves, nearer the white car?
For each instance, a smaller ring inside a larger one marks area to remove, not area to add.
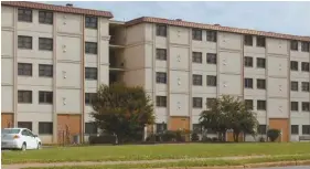
[[[152,102],[139,86],[101,85],[92,105],[95,124],[104,133],[116,135],[118,142],[138,139],[145,126],[154,123]]]

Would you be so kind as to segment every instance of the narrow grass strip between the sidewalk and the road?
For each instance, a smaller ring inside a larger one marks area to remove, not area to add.
[[[286,156],[255,158],[244,160],[184,160],[180,162],[161,162],[161,163],[135,163],[135,165],[101,165],[101,166],[64,166],[64,167],[46,167],[41,169],[145,169],[145,168],[168,168],[168,167],[214,167],[214,166],[244,166],[249,163],[279,162],[293,160],[309,160],[310,155]],[[39,169],[39,168],[25,168]]]

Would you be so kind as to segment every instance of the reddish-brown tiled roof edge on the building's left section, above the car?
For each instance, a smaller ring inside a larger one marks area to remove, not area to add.
[[[113,18],[111,12],[109,11],[99,11],[99,10],[92,10],[92,9],[82,9],[76,7],[55,6],[55,4],[46,4],[46,3],[38,3],[38,2],[29,2],[29,1],[2,1],[1,6],[30,8],[30,9],[38,9],[38,10],[50,10],[50,11],[64,12],[64,13],[96,15],[96,17],[103,17],[108,19]]]

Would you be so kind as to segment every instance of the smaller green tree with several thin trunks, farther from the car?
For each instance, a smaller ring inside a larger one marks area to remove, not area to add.
[[[221,140],[232,129],[234,141],[238,141],[240,133],[255,135],[258,125],[256,114],[239,98],[228,95],[215,99],[207,110],[202,112],[200,122],[205,128],[220,133]]]

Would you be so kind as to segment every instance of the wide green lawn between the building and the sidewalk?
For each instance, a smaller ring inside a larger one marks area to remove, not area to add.
[[[297,154],[310,154],[310,142],[57,147],[42,150],[2,151],[2,163],[151,160]]]

